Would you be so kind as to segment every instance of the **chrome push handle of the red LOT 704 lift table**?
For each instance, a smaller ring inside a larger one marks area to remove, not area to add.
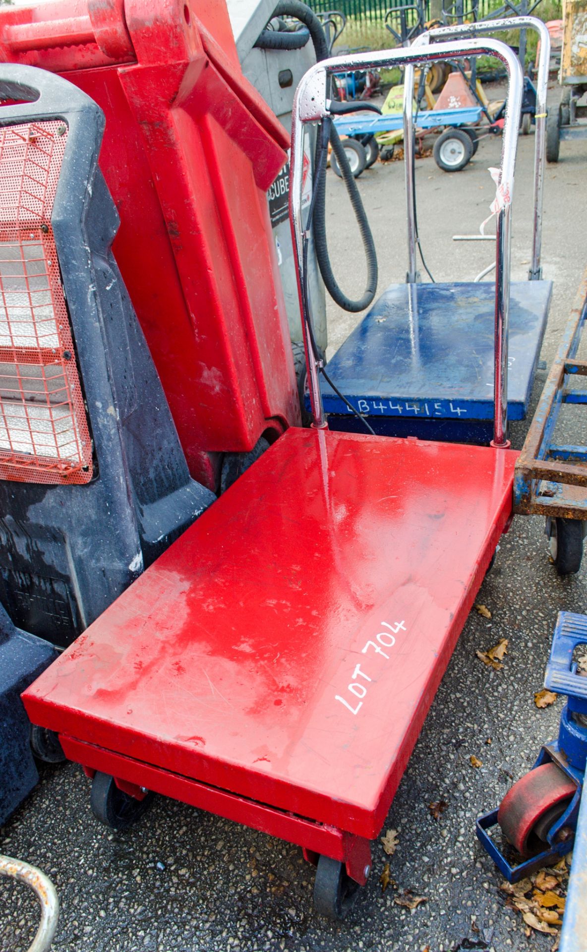
[[[510,282],[510,243],[511,243],[511,202],[514,190],[514,168],[518,146],[519,112],[523,76],[519,61],[513,50],[504,43],[492,39],[459,40],[450,43],[428,44],[409,49],[380,50],[376,52],[348,53],[331,57],[317,63],[303,76],[294,97],[292,109],[291,161],[289,169],[289,218],[293,238],[298,293],[303,321],[303,345],[307,364],[307,379],[310,391],[313,426],[326,426],[319,380],[319,359],[311,345],[311,314],[306,305],[305,274],[303,268],[303,126],[308,122],[320,122],[328,116],[329,100],[326,90],[327,79],[335,72],[349,72],[354,69],[381,69],[403,66],[424,67],[428,63],[444,59],[468,59],[479,55],[496,56],[505,65],[509,87],[501,163],[499,169],[498,200],[499,212],[496,241],[496,307],[495,307],[495,387],[494,387],[494,446],[507,446],[507,331],[509,320],[509,282]],[[409,70],[406,69],[406,74]],[[413,83],[413,75],[412,75]],[[404,122],[405,116],[404,106]],[[409,119],[412,121],[410,100]],[[411,144],[411,137],[409,140]],[[404,147],[408,145],[404,140]],[[406,178],[408,176],[408,149],[404,149],[406,159]],[[410,167],[411,168],[411,167]],[[408,183],[409,187],[409,183]],[[413,187],[413,183],[412,183]],[[409,188],[408,188],[409,190]],[[413,190],[413,188],[412,188]],[[408,208],[410,206],[408,194]],[[409,215],[408,215],[409,222]],[[308,223],[308,228],[311,223]]]

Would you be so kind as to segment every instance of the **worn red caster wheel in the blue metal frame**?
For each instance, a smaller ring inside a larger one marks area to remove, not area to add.
[[[549,848],[549,829],[562,816],[577,792],[577,785],[554,764],[540,764],[520,777],[501,801],[501,831],[529,859]]]

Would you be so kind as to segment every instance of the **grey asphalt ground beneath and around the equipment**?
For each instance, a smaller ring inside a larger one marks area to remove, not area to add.
[[[431,145],[432,140],[427,140]],[[471,164],[446,174],[431,157],[417,163],[421,242],[437,280],[470,280],[491,260],[491,246],[455,244],[474,233],[495,193],[488,167],[501,143],[485,138]],[[531,243],[534,136],[521,138],[514,197],[512,276],[523,280]],[[555,291],[542,358],[550,363],[587,264],[587,140],[562,143],[546,171],[543,269]],[[378,163],[359,187],[380,259],[380,288],[405,273],[402,166]],[[362,288],[362,252],[342,197],[328,173],[331,251],[345,290]],[[359,319],[329,310],[331,345]],[[545,371],[538,371],[534,402]],[[573,442],[585,442],[580,411]],[[521,446],[525,425],[513,427]],[[508,908],[500,877],[476,840],[479,813],[497,805],[512,778],[527,771],[541,743],[557,734],[561,699],[538,710],[550,639],[560,609],[587,607],[587,560],[577,576],[559,578],[549,563],[543,520],[519,517],[503,537],[478,603],[460,636],[383,830],[398,831],[392,857],[374,844],[374,867],[342,924],[312,911],[313,869],[298,848],[181,803],[158,798],[127,832],[111,833],[89,811],[89,783],[77,766],[42,767],[41,782],[0,831],[0,850],[44,869],[62,906],[56,950],[158,952],[287,949],[542,950],[553,937],[532,932]],[[502,670],[476,650],[508,640]],[[153,699],[156,703],[156,699]],[[488,743],[491,739],[491,743]],[[481,766],[470,763],[476,756]],[[429,803],[447,806],[438,820]],[[382,891],[384,864],[397,883]],[[404,889],[426,897],[414,910],[395,902]],[[37,922],[24,886],[0,881],[0,949],[25,950]]]

